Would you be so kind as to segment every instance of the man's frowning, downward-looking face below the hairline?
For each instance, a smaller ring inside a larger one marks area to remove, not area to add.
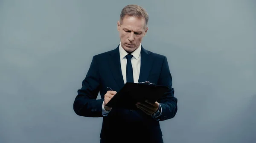
[[[122,48],[128,52],[133,52],[140,46],[148,27],[145,28],[144,18],[125,16],[122,25],[119,21],[117,22],[117,30]]]

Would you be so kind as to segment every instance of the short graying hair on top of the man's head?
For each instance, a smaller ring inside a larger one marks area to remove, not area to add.
[[[122,20],[126,15],[144,18],[145,27],[148,26],[148,13],[143,7],[134,4],[125,6],[120,14],[120,24],[122,24]]]

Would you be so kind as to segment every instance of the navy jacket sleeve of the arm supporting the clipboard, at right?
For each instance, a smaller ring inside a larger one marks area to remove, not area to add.
[[[163,59],[162,70],[157,84],[169,87],[169,91],[166,92],[162,98],[158,100],[158,102],[161,104],[162,113],[157,119],[158,121],[164,121],[170,118],[174,118],[177,112],[177,98],[174,97],[174,89],[172,88],[172,75],[170,73],[166,57]]]

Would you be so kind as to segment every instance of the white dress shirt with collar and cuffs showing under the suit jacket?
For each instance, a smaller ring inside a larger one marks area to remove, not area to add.
[[[140,46],[134,50],[131,55],[133,57],[131,58],[131,65],[132,65],[132,71],[133,71],[133,77],[134,77],[134,83],[138,83],[139,77],[140,77],[140,51],[141,51],[141,44]],[[127,53],[121,46],[121,42],[119,44],[119,54],[120,54],[120,63],[121,63],[121,70],[122,70],[122,76],[124,79],[124,83],[126,83],[126,55],[129,54]],[[102,115],[107,116],[110,111],[105,110],[104,108],[104,101],[102,104]],[[161,112],[162,112],[162,107],[161,107]]]

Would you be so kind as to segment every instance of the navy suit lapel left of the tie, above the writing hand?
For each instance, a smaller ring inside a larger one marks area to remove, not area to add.
[[[113,77],[116,83],[121,89],[125,84],[124,84],[122,70],[121,70],[119,46],[115,50],[113,50],[113,52],[111,53],[109,64],[110,64],[111,73],[113,74]]]

